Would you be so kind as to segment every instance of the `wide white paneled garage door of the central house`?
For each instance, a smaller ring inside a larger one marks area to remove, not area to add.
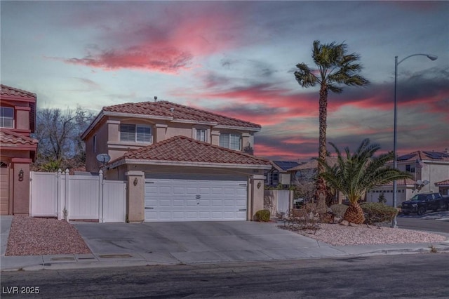
[[[145,180],[147,222],[246,220],[246,205],[246,177],[147,175]]]

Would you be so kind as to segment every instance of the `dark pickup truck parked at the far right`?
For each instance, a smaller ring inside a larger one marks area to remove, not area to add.
[[[439,193],[416,194],[408,201],[404,201],[401,211],[404,215],[417,213],[424,215],[427,211],[449,210],[449,197],[442,197]]]

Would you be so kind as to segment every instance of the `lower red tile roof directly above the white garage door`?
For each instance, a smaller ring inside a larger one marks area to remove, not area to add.
[[[270,162],[250,154],[228,150],[185,136],[175,136],[154,145],[142,147],[123,154],[123,157],[110,161],[112,164],[122,159],[156,161],[202,162],[208,164],[248,164],[271,166]]]

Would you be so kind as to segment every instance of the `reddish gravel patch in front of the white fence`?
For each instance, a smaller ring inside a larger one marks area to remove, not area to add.
[[[5,255],[91,253],[76,228],[65,220],[15,215]]]

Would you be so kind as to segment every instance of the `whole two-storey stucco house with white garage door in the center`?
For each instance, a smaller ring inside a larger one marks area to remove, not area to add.
[[[81,138],[86,171],[127,180],[137,221],[252,220],[269,161],[248,154],[260,125],[173,102],[103,107]]]

